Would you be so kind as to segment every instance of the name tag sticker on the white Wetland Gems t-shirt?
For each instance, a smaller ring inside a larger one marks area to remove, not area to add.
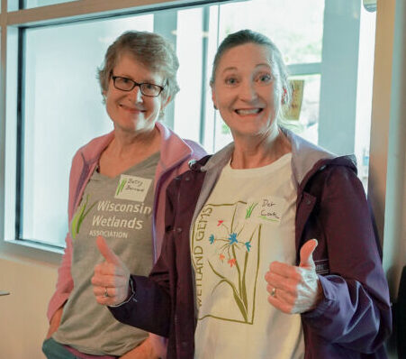
[[[251,220],[264,224],[279,224],[286,209],[286,200],[275,196],[249,199],[247,207]]]

